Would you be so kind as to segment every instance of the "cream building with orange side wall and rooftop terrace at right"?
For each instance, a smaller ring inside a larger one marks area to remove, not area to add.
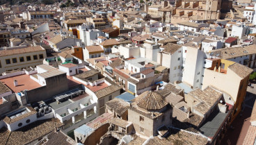
[[[231,117],[233,121],[241,111],[249,76],[253,69],[238,62],[219,58],[205,60],[205,68],[202,89],[211,85],[230,95],[234,100],[234,112],[232,112]]]

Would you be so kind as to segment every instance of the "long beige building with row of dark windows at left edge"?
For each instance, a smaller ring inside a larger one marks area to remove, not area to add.
[[[22,70],[36,65],[42,65],[46,51],[42,46],[29,46],[22,49],[7,49],[0,51],[0,74],[6,71]]]

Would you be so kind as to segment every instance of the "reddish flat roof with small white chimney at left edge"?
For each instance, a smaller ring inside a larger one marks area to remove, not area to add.
[[[18,83],[16,87],[14,86],[14,80],[17,80],[17,83]],[[0,81],[15,93],[21,92],[24,89],[31,90],[31,89],[36,89],[38,87],[42,87],[39,83],[37,83],[35,80],[32,80],[29,77],[29,75],[26,75],[26,74],[13,76],[10,78],[3,78]]]

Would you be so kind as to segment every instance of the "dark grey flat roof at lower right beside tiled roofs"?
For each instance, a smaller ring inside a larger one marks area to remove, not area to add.
[[[202,135],[206,137],[213,138],[214,135],[218,132],[218,128],[221,127],[221,124],[227,117],[228,113],[223,112],[212,112],[210,116],[207,118],[203,126],[200,128]]]

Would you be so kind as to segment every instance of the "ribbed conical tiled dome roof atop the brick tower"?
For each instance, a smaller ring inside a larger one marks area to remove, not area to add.
[[[168,103],[157,92],[147,91],[138,96],[137,105],[145,110],[159,110]]]

